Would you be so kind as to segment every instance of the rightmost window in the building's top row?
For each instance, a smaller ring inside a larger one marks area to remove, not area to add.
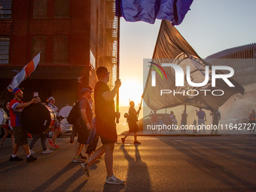
[[[54,17],[69,17],[69,0],[55,0]]]

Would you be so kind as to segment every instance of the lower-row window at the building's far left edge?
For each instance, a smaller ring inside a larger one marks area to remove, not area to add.
[[[0,64],[9,63],[10,38],[0,37]]]

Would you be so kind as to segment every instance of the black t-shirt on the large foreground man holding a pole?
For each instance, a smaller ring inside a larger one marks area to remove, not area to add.
[[[102,97],[102,93],[110,91],[107,84],[102,81],[98,81],[94,88],[94,102],[95,102],[95,114],[96,114],[96,126],[105,126],[105,128],[115,128],[115,111],[114,111],[114,99],[107,102]]]

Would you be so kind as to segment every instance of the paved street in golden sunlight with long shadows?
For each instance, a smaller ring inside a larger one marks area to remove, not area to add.
[[[0,148],[1,191],[256,191],[256,134],[236,136],[140,136],[142,145],[115,145],[114,174],[126,184],[105,184],[105,164],[92,166],[87,179],[72,163],[75,145],[58,139],[60,149],[35,163],[9,162],[11,140]],[[20,148],[18,156],[25,159]]]

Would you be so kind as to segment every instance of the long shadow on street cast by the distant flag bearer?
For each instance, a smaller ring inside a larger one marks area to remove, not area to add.
[[[135,145],[135,158],[125,149],[125,145],[120,145],[124,157],[128,161],[128,172],[125,183],[126,191],[151,191],[151,178],[148,173],[148,166],[142,162],[138,145]],[[108,190],[103,190],[108,191]]]

